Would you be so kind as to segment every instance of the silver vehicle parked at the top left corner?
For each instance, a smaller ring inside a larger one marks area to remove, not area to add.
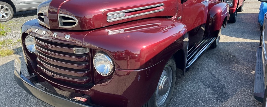
[[[34,10],[46,0],[0,0],[0,22],[9,21],[14,12]]]

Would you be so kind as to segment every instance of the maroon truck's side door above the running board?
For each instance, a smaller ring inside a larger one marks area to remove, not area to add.
[[[203,38],[209,0],[188,0],[182,4],[182,22],[187,26],[189,46]]]

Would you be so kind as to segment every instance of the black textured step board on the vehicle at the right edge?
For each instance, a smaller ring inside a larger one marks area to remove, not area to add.
[[[264,76],[262,67],[262,46],[257,49],[256,56],[256,69],[255,69],[255,80],[254,80],[254,98],[260,102],[263,101],[264,97]]]

